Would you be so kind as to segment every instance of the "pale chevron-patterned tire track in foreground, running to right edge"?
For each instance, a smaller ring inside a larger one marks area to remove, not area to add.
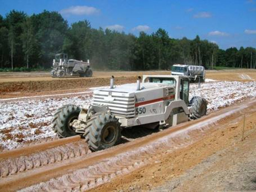
[[[162,153],[170,153],[175,149],[185,147],[200,139],[203,135],[206,135],[209,130],[214,131],[219,129],[230,121],[237,120],[238,118],[240,119],[242,117],[241,114],[245,111],[255,112],[255,110],[255,107],[241,106],[233,111],[226,111],[225,113],[219,114],[219,116],[208,118],[208,121],[195,121],[195,124],[193,125],[191,123],[189,127],[183,127],[183,129],[177,128],[176,131],[174,130],[174,132],[171,132],[172,134],[164,135],[162,133],[162,137],[159,137],[157,140],[153,138],[151,142],[148,141],[139,147],[126,147],[133,142],[120,144],[112,149],[107,149],[102,152],[102,159],[98,159],[99,161],[95,163],[92,162],[89,166],[52,178],[46,182],[24,188],[22,191],[89,190],[109,182],[115,177],[128,174],[139,167],[154,163]],[[165,132],[170,133],[170,130],[165,130]],[[154,135],[160,135],[160,133],[149,135],[138,140],[150,140]],[[134,143],[136,142],[137,141],[134,141]],[[124,149],[122,150],[122,148]],[[104,158],[108,152],[111,153],[111,151],[114,150],[121,150],[121,152],[114,156],[110,155],[107,158]],[[96,155],[97,153],[94,154]],[[98,157],[100,156],[101,151],[98,153]]]

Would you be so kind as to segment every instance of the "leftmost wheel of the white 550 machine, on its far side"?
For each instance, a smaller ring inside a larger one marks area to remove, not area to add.
[[[76,135],[70,123],[78,119],[81,108],[75,105],[64,105],[60,107],[53,116],[53,130],[60,138]]]

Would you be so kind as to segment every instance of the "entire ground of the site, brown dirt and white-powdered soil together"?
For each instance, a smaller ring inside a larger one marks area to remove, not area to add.
[[[143,74],[170,71],[0,73],[0,191],[256,190],[256,70],[207,71],[201,87],[190,86],[190,98],[206,98],[206,117],[161,131],[123,130],[122,143],[105,151],[53,132],[60,106],[90,104],[111,75],[119,85]]]

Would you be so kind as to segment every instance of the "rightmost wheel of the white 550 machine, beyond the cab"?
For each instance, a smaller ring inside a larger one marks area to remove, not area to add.
[[[207,101],[203,97],[192,97],[190,100],[190,105],[192,106],[192,117],[199,119],[206,115],[207,111]]]

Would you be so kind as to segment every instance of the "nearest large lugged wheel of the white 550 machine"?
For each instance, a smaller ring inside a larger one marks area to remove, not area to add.
[[[87,122],[89,124],[84,137],[93,151],[110,148],[121,138],[120,123],[111,113],[96,113]]]

